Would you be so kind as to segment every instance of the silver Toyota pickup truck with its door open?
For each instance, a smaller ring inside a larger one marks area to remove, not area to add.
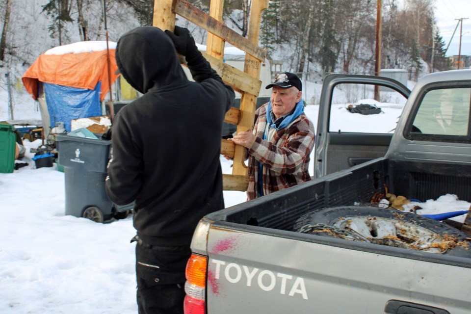
[[[348,113],[364,119],[350,130],[335,121],[375,91],[382,111],[403,107],[393,133],[369,131],[373,115]],[[185,313],[470,314],[464,224],[372,202],[470,202],[470,104],[471,70],[426,75],[412,92],[389,78],[327,76],[315,178],[201,219]]]

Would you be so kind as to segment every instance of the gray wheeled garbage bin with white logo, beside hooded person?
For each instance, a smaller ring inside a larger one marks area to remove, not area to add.
[[[65,214],[96,222],[126,218],[132,205],[115,207],[105,192],[111,141],[62,134],[55,140],[64,167]]]

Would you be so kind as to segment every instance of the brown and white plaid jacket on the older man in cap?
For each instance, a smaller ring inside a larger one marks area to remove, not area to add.
[[[248,200],[257,197],[259,162],[263,164],[264,195],[311,180],[308,166],[314,148],[313,123],[303,113],[286,128],[276,131],[270,141],[263,140],[267,106],[262,105],[255,112],[253,133],[257,139],[248,150]]]

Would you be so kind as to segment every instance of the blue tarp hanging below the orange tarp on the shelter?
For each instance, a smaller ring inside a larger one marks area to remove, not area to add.
[[[100,104],[101,81],[94,90],[44,83],[51,127],[63,122],[70,132],[70,120],[102,115]]]

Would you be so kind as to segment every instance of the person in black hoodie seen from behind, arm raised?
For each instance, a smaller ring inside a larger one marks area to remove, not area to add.
[[[221,130],[235,98],[186,28],[165,32],[137,27],[116,47],[121,75],[144,94],[116,115],[105,185],[115,204],[135,201],[139,314],[183,313],[193,231],[205,214],[224,208]]]

